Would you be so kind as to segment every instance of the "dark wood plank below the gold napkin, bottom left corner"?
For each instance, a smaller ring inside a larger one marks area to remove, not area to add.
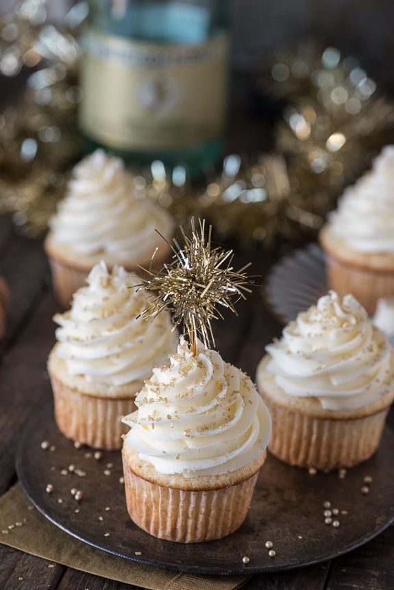
[[[58,563],[0,545],[1,590],[54,590],[63,571]]]

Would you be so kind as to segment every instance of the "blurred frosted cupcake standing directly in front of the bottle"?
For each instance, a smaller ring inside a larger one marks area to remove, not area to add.
[[[169,240],[173,221],[159,206],[136,199],[119,158],[97,149],[75,166],[67,190],[45,240],[53,289],[63,308],[100,260],[135,271],[150,265],[157,248],[155,265],[162,266],[170,247],[155,230]]]

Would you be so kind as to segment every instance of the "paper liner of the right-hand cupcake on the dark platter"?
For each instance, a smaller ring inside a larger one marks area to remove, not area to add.
[[[264,396],[272,418],[269,451],[290,465],[323,471],[352,467],[378,449],[389,408],[355,419],[323,419],[293,412]]]

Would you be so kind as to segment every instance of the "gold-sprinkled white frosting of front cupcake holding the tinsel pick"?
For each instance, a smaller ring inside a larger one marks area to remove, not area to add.
[[[125,445],[160,474],[221,475],[267,447],[271,417],[256,387],[218,352],[181,339],[169,365],[153,369],[136,397]]]

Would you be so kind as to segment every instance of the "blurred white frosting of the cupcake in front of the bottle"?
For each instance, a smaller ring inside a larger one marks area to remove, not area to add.
[[[77,164],[66,197],[49,225],[51,237],[83,257],[128,267],[149,261],[173,221],[162,208],[134,196],[122,160],[97,149]]]

